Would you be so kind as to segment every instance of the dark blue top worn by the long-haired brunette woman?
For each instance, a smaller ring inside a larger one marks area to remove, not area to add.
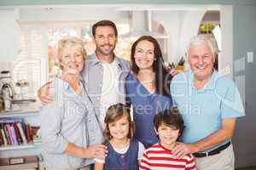
[[[150,94],[133,73],[126,77],[125,84],[128,102],[133,106],[135,137],[148,148],[158,142],[154,133],[154,115],[159,111],[171,109],[172,98],[156,93]]]

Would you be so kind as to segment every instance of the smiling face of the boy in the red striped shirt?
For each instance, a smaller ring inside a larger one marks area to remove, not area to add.
[[[154,128],[154,131],[159,135],[160,144],[166,148],[172,148],[179,137],[179,129],[166,126],[163,123],[160,124],[157,130]]]

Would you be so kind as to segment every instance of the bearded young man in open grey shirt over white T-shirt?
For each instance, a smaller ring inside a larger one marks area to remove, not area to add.
[[[125,77],[130,64],[113,53],[118,31],[110,20],[101,20],[92,26],[96,52],[86,59],[82,77],[96,115],[104,127],[104,118],[110,105],[125,104]]]

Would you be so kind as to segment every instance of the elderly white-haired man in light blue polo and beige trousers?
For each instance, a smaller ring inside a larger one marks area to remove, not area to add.
[[[214,71],[216,48],[205,35],[193,37],[187,48],[189,71],[172,79],[174,105],[183,116],[185,130],[173,155],[193,153],[203,170],[234,169],[231,138],[236,117],[244,116],[234,82]]]

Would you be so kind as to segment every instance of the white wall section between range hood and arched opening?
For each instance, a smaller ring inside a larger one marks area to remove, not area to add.
[[[168,62],[177,63],[185,57],[186,44],[190,37],[197,35],[206,9],[187,11],[157,11],[154,20],[158,20],[170,35],[168,39]]]

